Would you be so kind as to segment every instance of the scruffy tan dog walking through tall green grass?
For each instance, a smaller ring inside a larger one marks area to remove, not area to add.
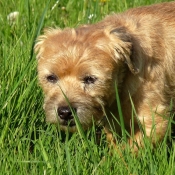
[[[117,86],[125,129],[134,126],[137,144],[145,135],[163,139],[175,98],[175,2],[48,29],[35,51],[47,121],[74,132],[74,111],[84,129],[102,122],[112,139],[111,130],[121,134]]]

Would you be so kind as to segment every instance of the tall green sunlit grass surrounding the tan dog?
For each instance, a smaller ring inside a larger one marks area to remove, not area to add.
[[[169,148],[163,142],[152,150],[145,140],[145,149],[138,156],[130,153],[127,144],[124,150],[120,144],[119,151],[111,148],[109,152],[104,133],[96,144],[94,128],[70,136],[46,124],[32,50],[36,36],[46,26],[76,27],[155,2],[161,1],[1,0],[0,174],[175,174],[174,144]],[[13,11],[19,12],[14,23],[7,20]]]

